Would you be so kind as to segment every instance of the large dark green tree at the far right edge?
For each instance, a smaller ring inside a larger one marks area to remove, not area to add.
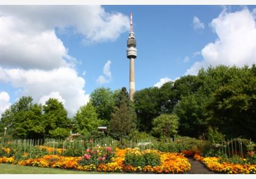
[[[251,69],[236,69],[238,75],[219,87],[208,103],[211,123],[227,137],[244,137],[256,140],[256,74]]]

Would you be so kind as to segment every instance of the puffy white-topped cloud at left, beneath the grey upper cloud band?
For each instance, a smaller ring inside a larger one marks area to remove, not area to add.
[[[1,66],[47,70],[71,66],[66,59],[74,58],[68,55],[54,30],[30,33],[24,21],[10,16],[0,16],[0,23]]]

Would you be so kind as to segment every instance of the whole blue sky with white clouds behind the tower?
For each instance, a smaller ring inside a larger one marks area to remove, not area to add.
[[[0,115],[32,96],[73,117],[97,88],[129,89],[130,12],[136,90],[256,64],[255,5],[0,5]]]

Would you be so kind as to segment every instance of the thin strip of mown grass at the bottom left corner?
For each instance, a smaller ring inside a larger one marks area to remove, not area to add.
[[[106,172],[71,171],[66,169],[52,169],[34,166],[20,166],[15,164],[0,164],[0,174],[116,174]]]

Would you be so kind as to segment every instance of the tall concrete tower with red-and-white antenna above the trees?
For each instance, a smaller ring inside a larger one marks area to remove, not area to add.
[[[127,39],[127,58],[130,59],[130,100],[133,101],[133,95],[135,92],[135,74],[134,74],[134,59],[137,57],[137,49],[135,35],[132,27],[132,13],[130,13],[130,33]]]

